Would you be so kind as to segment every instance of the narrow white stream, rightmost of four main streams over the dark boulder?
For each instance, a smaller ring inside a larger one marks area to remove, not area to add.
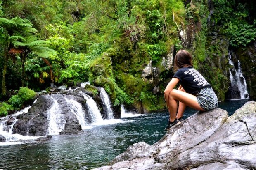
[[[109,96],[107,95],[105,89],[102,87],[100,87],[100,98],[103,101],[103,107],[104,107],[104,111],[106,111],[107,119],[114,119]]]

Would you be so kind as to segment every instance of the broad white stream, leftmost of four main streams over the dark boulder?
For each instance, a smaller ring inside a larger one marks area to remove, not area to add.
[[[48,129],[47,135],[58,135],[59,132],[64,129],[66,120],[64,115],[60,112],[59,104],[57,99],[54,99],[50,96],[50,99],[53,101],[52,107],[47,110],[47,120],[48,120]]]

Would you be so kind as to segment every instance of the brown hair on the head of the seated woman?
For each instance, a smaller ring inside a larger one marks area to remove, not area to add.
[[[192,56],[186,50],[179,50],[175,55],[174,66],[178,69],[192,66]]]

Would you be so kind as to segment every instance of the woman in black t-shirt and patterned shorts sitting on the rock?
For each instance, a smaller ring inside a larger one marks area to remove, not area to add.
[[[186,106],[201,111],[218,107],[216,94],[205,78],[192,67],[192,57],[188,51],[178,51],[174,65],[178,67],[178,71],[164,90],[164,99],[170,114],[165,130],[180,124],[178,119],[182,118]],[[177,90],[173,89],[178,82],[180,82],[180,87]],[[179,101],[179,106],[177,101]]]

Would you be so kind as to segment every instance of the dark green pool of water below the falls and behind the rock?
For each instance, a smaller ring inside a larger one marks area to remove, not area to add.
[[[232,115],[249,101],[226,101],[219,108]],[[196,111],[185,110],[184,118]],[[88,170],[107,165],[111,159],[136,142],[157,142],[166,133],[168,113],[122,118],[116,124],[95,126],[84,133],[53,136],[46,142],[0,146],[3,170]]]

